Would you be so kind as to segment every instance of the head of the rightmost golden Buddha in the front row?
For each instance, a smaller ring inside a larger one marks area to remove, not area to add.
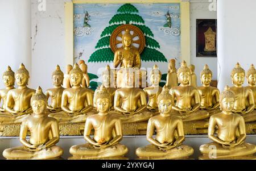
[[[231,112],[234,108],[235,94],[226,85],[224,91],[220,94],[220,109],[222,111]]]

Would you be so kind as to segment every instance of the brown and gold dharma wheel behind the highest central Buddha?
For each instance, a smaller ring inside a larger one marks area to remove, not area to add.
[[[141,53],[145,47],[145,37],[143,32],[136,26],[131,24],[123,24],[115,28],[110,36],[110,48],[115,53],[117,49],[122,47],[122,36],[126,30],[130,30],[130,34],[133,40],[131,47],[137,49]]]

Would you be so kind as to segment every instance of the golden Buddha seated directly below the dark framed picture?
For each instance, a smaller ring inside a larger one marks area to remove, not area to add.
[[[212,71],[207,64],[205,64],[204,69],[201,70],[200,78],[201,84],[203,85],[198,87],[201,97],[200,109],[208,111],[210,115],[221,112],[219,102],[220,90],[210,86],[210,82],[212,81]]]

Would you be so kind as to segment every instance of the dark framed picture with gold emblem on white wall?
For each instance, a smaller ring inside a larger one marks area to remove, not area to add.
[[[196,19],[196,57],[217,57],[216,19]]]

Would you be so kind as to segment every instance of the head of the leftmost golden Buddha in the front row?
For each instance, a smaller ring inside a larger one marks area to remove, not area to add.
[[[38,86],[36,93],[31,97],[31,106],[36,115],[46,113],[47,97],[40,86]]]

